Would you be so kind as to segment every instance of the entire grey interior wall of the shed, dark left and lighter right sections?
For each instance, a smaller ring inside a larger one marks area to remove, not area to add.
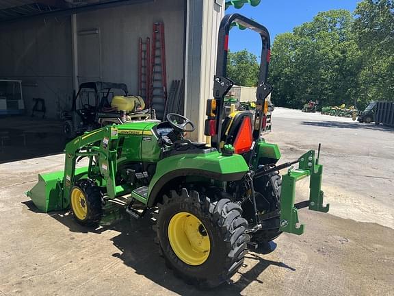
[[[161,0],[84,12],[75,17],[75,30],[72,18],[0,25],[0,77],[23,80],[27,112],[33,106],[32,98],[42,97],[47,117],[59,118],[61,110],[71,106],[73,84],[77,81],[75,74],[96,76],[81,77],[80,81],[124,82],[131,93],[136,94],[138,38],[151,38],[155,21],[165,23],[169,86],[172,79],[183,78],[185,0]],[[95,29],[98,34],[94,34]],[[76,64],[73,48],[77,53]]]

